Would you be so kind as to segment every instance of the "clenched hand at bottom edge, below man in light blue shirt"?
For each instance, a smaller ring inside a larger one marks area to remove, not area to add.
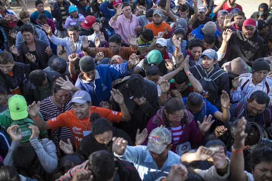
[[[165,181],[185,181],[188,179],[188,170],[186,166],[173,164]]]

